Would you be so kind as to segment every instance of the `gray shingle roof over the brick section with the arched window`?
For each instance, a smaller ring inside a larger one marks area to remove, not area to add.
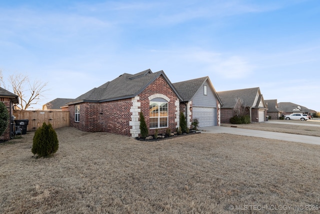
[[[172,86],[172,83],[168,80],[163,71],[152,73],[151,70],[148,69],[133,75],[124,73],[114,80],[104,83],[98,88],[91,89],[90,91],[80,95],[67,104],[74,104],[79,102],[106,102],[131,98],[142,92],[142,90],[144,90],[160,75],[164,77],[164,79],[179,97],[174,87]]]

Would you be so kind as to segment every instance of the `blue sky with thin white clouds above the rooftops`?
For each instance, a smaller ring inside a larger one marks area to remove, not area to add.
[[[318,0],[0,2],[0,70],[48,82],[40,104],[151,69],[320,111],[319,68]]]

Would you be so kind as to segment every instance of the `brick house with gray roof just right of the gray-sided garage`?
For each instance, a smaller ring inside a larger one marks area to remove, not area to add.
[[[221,123],[229,123],[235,115],[250,115],[251,122],[265,121],[266,106],[260,88],[247,88],[217,92],[223,106]]]

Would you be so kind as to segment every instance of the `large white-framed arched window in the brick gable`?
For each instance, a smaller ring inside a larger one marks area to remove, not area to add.
[[[168,127],[168,102],[163,98],[154,98],[149,102],[149,127]]]

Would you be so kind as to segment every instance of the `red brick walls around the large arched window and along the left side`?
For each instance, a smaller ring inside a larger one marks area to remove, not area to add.
[[[168,128],[174,131],[176,122],[175,101],[178,99],[165,79],[160,76],[139,95],[140,111],[143,113],[146,125],[149,127],[149,99],[153,94],[163,94],[170,99],[168,103]],[[130,120],[132,112],[132,99],[122,99],[103,103],[81,103],[80,122],[74,122],[74,105],[68,107],[70,111],[70,126],[81,131],[104,131],[116,134],[130,135]],[[165,133],[167,128],[158,129],[158,133]],[[154,134],[155,129],[149,129],[149,134]]]

